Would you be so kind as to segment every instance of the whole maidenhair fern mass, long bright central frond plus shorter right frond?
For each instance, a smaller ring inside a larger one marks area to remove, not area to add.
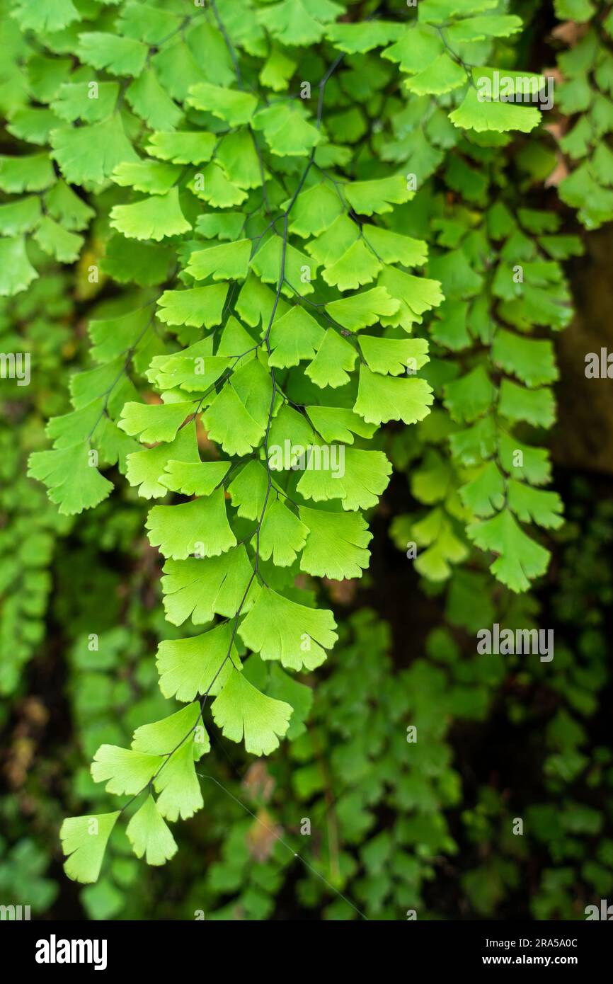
[[[110,495],[113,466],[161,500],[147,531],[187,633],[157,652],[184,707],[101,745],[92,777],[124,799],[62,828],[68,875],[93,882],[124,811],[137,856],[174,854],[211,721],[254,755],[287,734],[285,671],[337,641],[311,579],[369,563],[382,424],[429,446],[411,479],[433,507],[410,529],[426,578],[470,542],[514,590],[544,572],[521,526],[557,525],[560,503],[516,427],[553,419],[552,345],[531,336],[568,321],[575,245],[507,194],[501,149],[539,123],[520,103],[543,80],[509,70],[512,98],[494,92],[494,48],[521,28],[505,4],[8,6],[25,84],[1,92],[20,144],[0,166],[0,289],[81,257],[102,302],[30,473],[65,515]]]

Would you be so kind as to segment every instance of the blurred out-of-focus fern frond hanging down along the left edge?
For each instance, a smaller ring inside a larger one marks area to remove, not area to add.
[[[68,277],[48,269],[27,294],[0,300],[0,348],[14,359],[16,378],[3,379],[0,435],[0,694],[18,693],[25,664],[44,638],[51,589],[47,570],[58,533],[71,521],[59,516],[43,489],[25,475],[27,453],[45,443],[44,420],[66,400],[61,385],[63,356],[72,345],[68,320],[74,305]],[[10,367],[10,361],[7,361]],[[31,385],[36,373],[40,389]],[[25,437],[15,441],[15,428]]]

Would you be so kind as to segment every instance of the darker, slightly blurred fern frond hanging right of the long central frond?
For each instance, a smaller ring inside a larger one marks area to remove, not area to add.
[[[558,257],[581,251],[581,243],[558,234],[556,215],[514,208],[511,195],[499,191],[497,151],[467,142],[459,150],[445,178],[466,203],[450,209],[435,199],[429,261],[445,302],[431,326],[436,347],[425,375],[448,417],[420,425],[425,454],[412,462],[410,484],[427,512],[397,518],[392,532],[401,549],[413,543],[415,566],[430,581],[449,578],[474,544],[490,556],[499,581],[524,591],[545,573],[549,555],[536,531],[521,524],[562,523],[559,496],[538,488],[550,474],[546,453],[534,447],[555,420],[558,373],[552,342],[532,334],[569,323]],[[421,194],[427,201],[427,191]],[[488,200],[486,209],[475,208]],[[419,207],[418,195],[408,206],[407,231],[420,227]],[[461,361],[450,361],[450,352]],[[446,445],[451,459],[442,455]]]

